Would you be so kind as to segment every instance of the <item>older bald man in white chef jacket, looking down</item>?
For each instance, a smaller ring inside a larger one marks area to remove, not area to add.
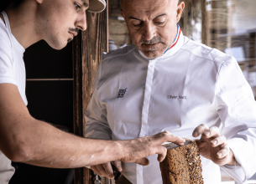
[[[126,140],[162,130],[201,135],[205,183],[221,182],[219,166],[246,181],[256,171],[256,104],[236,60],[183,36],[177,23],[185,4],[178,0],[121,3],[133,44],[103,54],[86,137]],[[123,175],[133,184],[161,183],[154,157],[149,166],[123,163]],[[91,169],[112,177],[109,163]]]

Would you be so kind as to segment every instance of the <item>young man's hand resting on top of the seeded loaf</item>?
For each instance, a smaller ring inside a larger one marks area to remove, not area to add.
[[[174,142],[177,145],[183,146],[185,139],[175,135],[171,135],[168,131],[163,131],[157,135],[140,137],[135,140],[122,141],[123,162],[138,163],[142,166],[149,165],[149,160],[145,156],[158,154],[158,161],[164,161],[167,149],[161,146],[166,141]]]

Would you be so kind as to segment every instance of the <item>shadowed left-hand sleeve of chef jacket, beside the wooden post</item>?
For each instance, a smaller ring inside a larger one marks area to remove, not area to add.
[[[99,64],[97,74],[92,85],[92,96],[87,106],[85,118],[85,136],[91,139],[112,140],[112,130],[107,123],[107,110],[97,93],[99,80],[101,79],[102,62]]]

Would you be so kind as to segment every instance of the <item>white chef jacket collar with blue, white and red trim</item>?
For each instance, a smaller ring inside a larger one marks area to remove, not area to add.
[[[178,50],[182,47],[184,43],[184,36],[183,33],[180,29],[180,26],[177,24],[177,34],[175,37],[175,41],[174,43],[172,43],[172,45],[170,46],[169,49],[166,49],[165,53],[162,54],[161,56],[159,56],[156,59],[165,59],[165,58],[169,58],[170,56],[174,55],[176,52],[178,52]],[[149,59],[147,56],[145,56],[140,50],[138,50],[139,54],[144,58],[144,59],[148,59],[148,60],[154,60],[154,59]]]

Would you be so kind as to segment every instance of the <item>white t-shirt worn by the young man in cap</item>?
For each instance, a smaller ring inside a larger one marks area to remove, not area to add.
[[[23,59],[25,49],[11,33],[7,14],[2,12],[2,15],[5,23],[0,18],[0,84],[17,85],[25,105],[28,105],[25,95],[26,71]],[[0,151],[0,183],[7,184],[14,171],[11,161]]]

